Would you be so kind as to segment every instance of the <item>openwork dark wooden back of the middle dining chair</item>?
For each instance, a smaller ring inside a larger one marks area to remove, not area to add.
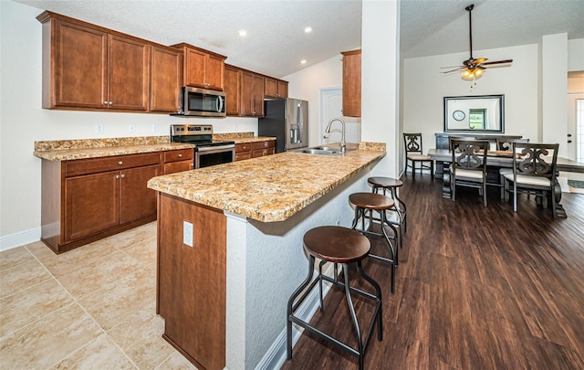
[[[489,149],[489,143],[477,140],[459,140],[451,141],[453,146],[452,171],[456,176],[456,169],[470,171],[480,171],[486,174],[486,153]]]

